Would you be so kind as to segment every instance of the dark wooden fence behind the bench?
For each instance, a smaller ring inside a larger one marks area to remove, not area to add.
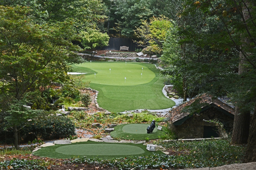
[[[97,50],[120,50],[120,46],[129,47],[129,51],[135,51],[135,48],[141,49],[142,47],[133,42],[134,40],[139,41],[137,38],[109,38],[109,46],[97,48]]]

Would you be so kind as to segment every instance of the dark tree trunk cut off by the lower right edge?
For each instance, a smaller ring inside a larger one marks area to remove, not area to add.
[[[252,122],[250,127],[250,133],[248,138],[247,150],[244,156],[244,163],[256,162],[256,103],[254,106],[254,113],[252,116]]]

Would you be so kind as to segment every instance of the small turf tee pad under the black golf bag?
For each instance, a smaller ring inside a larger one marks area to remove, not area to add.
[[[158,139],[159,136],[165,135],[165,127],[162,126],[162,130],[157,130],[158,125],[152,133],[147,133],[147,127],[150,124],[123,124],[114,127],[114,131],[110,132],[110,135],[115,138],[121,138],[126,140],[145,140]]]

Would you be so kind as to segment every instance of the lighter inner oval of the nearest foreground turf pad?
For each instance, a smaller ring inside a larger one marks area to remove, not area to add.
[[[138,146],[110,143],[65,145],[55,152],[66,155],[134,155],[142,154],[144,150]]]

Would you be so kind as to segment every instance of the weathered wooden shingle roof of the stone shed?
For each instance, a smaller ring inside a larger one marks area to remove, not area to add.
[[[201,98],[201,100],[199,101],[200,103],[207,103],[213,107],[215,107],[216,109],[218,110],[221,110],[223,111],[224,113],[228,114],[229,116],[233,117],[234,114],[235,114],[235,109],[233,109],[232,107],[228,106],[227,104],[223,103],[222,101],[220,101],[219,99],[212,99],[212,96],[210,95],[207,95],[207,94],[204,94],[202,96],[198,96],[186,103],[183,103],[181,105],[179,105],[178,107],[174,108],[173,110],[170,111],[171,113],[171,120],[172,122],[177,122],[179,121],[180,119],[183,119],[184,117],[187,117],[190,115],[190,113],[184,113],[184,112],[181,112],[182,109],[185,107],[185,106],[189,106],[190,104],[192,104],[196,99],[199,99]],[[208,107],[208,106],[205,106],[205,107]],[[205,110],[203,108],[205,107],[202,107],[202,111]],[[209,108],[209,107],[208,107]],[[181,123],[181,122],[180,122]],[[176,125],[180,125],[180,123],[176,123]],[[183,123],[183,122],[182,122]],[[175,123],[174,123],[175,125]]]

